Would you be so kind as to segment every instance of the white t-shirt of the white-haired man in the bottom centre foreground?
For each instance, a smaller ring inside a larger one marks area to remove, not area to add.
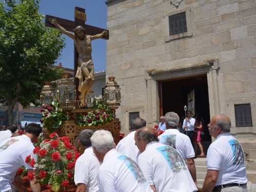
[[[138,164],[115,149],[105,155],[97,180],[100,192],[152,191]]]

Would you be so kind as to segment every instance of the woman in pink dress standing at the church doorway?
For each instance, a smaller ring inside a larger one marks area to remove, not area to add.
[[[194,138],[196,154],[197,154],[197,148],[198,148],[197,145],[198,145],[200,148],[200,151],[201,151],[201,154],[199,156],[203,156],[204,150],[203,150],[203,145],[202,145],[201,132],[203,131],[204,126],[203,126],[202,118],[200,116],[197,117],[194,127],[195,127],[195,131],[197,131],[195,138]]]

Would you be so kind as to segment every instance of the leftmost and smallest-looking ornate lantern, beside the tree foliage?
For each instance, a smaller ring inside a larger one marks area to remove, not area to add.
[[[41,105],[51,103],[57,96],[55,89],[51,86],[51,81],[45,81],[45,86],[41,89]]]

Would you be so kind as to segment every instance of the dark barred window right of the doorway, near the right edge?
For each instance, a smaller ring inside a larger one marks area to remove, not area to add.
[[[252,126],[250,104],[235,104],[234,112],[237,127]]]

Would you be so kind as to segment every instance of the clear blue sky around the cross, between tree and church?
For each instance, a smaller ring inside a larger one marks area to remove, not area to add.
[[[41,0],[40,13],[52,15],[68,20],[74,20],[74,9],[80,7],[86,9],[87,25],[106,29],[106,0]],[[65,35],[66,36],[66,35]],[[66,47],[56,64],[62,63],[62,67],[74,69],[74,41],[66,36]],[[95,72],[104,71],[106,66],[106,40],[95,39],[92,41],[92,57]]]

